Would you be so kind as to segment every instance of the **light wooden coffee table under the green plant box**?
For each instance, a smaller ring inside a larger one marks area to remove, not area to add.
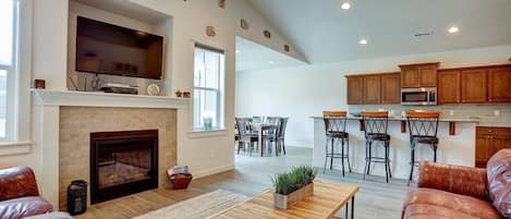
[[[355,194],[358,186],[337,183],[326,180],[314,182],[314,195],[305,198],[295,206],[282,210],[273,207],[273,190],[269,190],[252,199],[229,208],[210,219],[324,219],[334,218],[342,206],[346,206],[345,217],[349,216],[351,199],[351,218],[354,218]]]

